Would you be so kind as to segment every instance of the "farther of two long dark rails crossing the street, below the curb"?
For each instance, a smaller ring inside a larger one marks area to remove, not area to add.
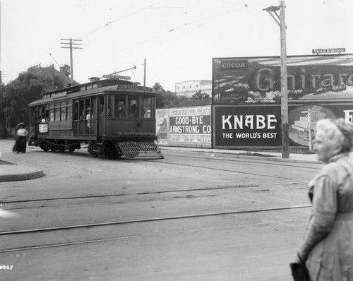
[[[209,187],[203,189],[173,189],[165,191],[145,191],[137,193],[118,193],[118,194],[101,194],[101,195],[88,195],[88,196],[70,196],[70,197],[56,197],[56,198],[38,198],[30,200],[13,200],[13,201],[0,201],[0,204],[9,203],[30,203],[38,201],[59,201],[59,200],[74,200],[74,199],[87,199],[87,198],[102,198],[102,197],[119,197],[119,196],[136,196],[136,195],[150,195],[150,194],[160,194],[160,193],[175,193],[175,192],[190,192],[190,191],[209,191],[209,190],[220,190],[220,189],[234,189],[234,188],[244,188],[244,187],[256,187],[258,184],[239,184],[235,186],[217,186]]]

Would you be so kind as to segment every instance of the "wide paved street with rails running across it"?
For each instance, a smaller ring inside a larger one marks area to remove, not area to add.
[[[13,265],[1,280],[291,280],[306,184],[322,167],[173,150],[164,160],[17,155],[12,140],[0,144],[2,160],[45,174],[0,183],[11,212],[0,264]]]

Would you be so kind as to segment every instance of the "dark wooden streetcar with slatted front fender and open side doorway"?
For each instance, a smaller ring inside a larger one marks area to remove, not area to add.
[[[155,143],[152,88],[115,76],[41,95],[28,104],[30,145],[71,153],[86,145],[94,157],[164,158]]]

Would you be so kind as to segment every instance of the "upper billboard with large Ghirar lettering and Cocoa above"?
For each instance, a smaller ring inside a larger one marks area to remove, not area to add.
[[[213,102],[280,102],[280,57],[213,59]],[[288,101],[353,99],[353,55],[287,56]]]

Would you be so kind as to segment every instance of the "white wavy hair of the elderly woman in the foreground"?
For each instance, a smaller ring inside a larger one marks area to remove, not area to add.
[[[316,123],[316,131],[323,131],[330,143],[341,146],[340,153],[349,152],[353,147],[353,123],[345,119],[321,119]]]

